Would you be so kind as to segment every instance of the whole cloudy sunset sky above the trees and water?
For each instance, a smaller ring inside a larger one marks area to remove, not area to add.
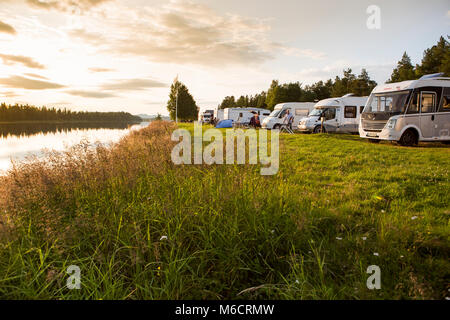
[[[448,0],[0,0],[0,101],[167,115],[177,75],[201,109],[346,68],[383,83],[449,31]]]

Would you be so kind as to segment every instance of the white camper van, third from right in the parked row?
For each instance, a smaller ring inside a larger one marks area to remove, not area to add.
[[[306,117],[313,109],[314,102],[287,102],[279,103],[275,106],[272,113],[265,118],[261,123],[264,129],[279,129],[283,124],[283,118],[287,112],[294,115],[294,122],[292,123],[292,129],[297,129],[297,123],[303,117]]]

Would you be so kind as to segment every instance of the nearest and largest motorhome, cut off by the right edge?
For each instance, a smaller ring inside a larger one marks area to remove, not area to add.
[[[373,89],[364,108],[359,134],[371,142],[450,142],[450,78],[442,73]]]

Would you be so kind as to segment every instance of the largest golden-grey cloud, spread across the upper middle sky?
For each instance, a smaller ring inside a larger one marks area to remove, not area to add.
[[[96,33],[92,26],[84,26],[68,31],[68,35],[102,53],[139,56],[160,63],[223,67],[258,65],[280,52],[313,59],[324,56],[271,41],[270,19],[222,15],[193,1],[170,1],[162,7],[139,10],[122,6],[105,9],[108,19],[104,30],[108,33]]]

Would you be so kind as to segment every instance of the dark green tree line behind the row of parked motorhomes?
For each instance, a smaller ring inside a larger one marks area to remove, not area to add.
[[[424,51],[421,64],[415,67],[405,52],[387,82],[413,80],[425,74],[438,72],[450,76],[449,42],[444,37],[441,37],[435,46]],[[336,76],[334,80],[318,81],[306,86],[302,86],[300,82],[280,84],[278,80],[273,80],[267,91],[250,96],[242,95],[237,99],[234,96],[226,96],[218,107],[219,109],[257,107],[273,110],[276,104],[286,101],[317,101],[340,97],[347,93],[367,96],[376,85],[377,83],[370,78],[366,69],[362,69],[359,75],[355,75],[352,69],[346,69],[342,77]]]

